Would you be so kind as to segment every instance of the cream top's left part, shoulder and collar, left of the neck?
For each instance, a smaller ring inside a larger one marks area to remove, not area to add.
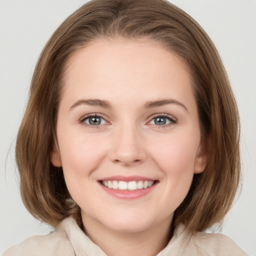
[[[105,253],[94,244],[70,216],[48,235],[35,235],[9,248],[3,256],[75,256]]]

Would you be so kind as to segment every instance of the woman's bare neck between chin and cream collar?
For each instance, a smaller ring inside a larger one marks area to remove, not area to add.
[[[88,216],[82,216],[88,237],[108,256],[153,256],[169,241],[170,219],[141,231],[120,232],[109,229]]]

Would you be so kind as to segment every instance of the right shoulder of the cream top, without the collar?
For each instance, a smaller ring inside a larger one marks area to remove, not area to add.
[[[220,233],[195,232],[191,235],[190,242],[198,251],[205,252],[205,255],[247,255],[230,237]]]

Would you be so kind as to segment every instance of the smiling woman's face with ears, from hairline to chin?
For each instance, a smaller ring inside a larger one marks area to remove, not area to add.
[[[51,161],[83,222],[109,230],[167,226],[205,167],[189,71],[153,41],[79,49],[67,63],[56,133]]]

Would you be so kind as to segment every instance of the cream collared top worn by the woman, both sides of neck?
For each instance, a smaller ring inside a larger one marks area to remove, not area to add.
[[[72,217],[65,218],[48,235],[35,235],[10,247],[3,256],[106,256],[79,228]],[[245,256],[228,236],[218,233],[192,234],[181,224],[167,246],[156,256]]]

